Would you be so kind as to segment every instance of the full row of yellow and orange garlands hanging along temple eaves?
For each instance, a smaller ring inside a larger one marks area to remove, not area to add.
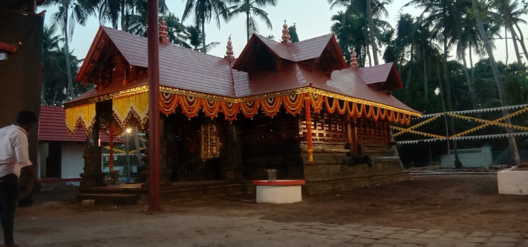
[[[267,97],[264,98],[248,99],[241,102],[231,102],[224,98],[208,98],[206,95],[191,96],[162,92],[159,95],[159,110],[161,113],[169,115],[176,112],[179,106],[182,113],[188,118],[197,116],[201,110],[208,117],[218,117],[219,113],[223,113],[225,120],[234,121],[239,111],[247,118],[257,115],[259,110],[262,110],[266,116],[273,117],[280,111],[281,105],[284,106],[287,113],[295,115],[303,107],[306,107],[306,98],[308,98],[310,102],[308,106],[311,106],[315,113],[320,112],[325,106],[329,113],[337,111],[341,115],[367,117],[374,121],[381,119],[393,123],[410,124],[412,112],[402,113],[399,108],[391,106],[370,105],[374,102],[354,98],[336,98],[337,95],[331,97],[319,94],[319,91],[315,89],[313,91],[293,91],[291,94],[279,94],[271,97],[266,95]],[[143,128],[148,121],[148,91],[112,98],[112,111],[118,125],[125,125],[133,117],[138,120],[140,127]],[[92,119],[95,117],[95,104],[73,106],[67,108],[67,113],[70,133],[74,131],[76,126],[86,126],[85,128],[90,130],[93,124]]]

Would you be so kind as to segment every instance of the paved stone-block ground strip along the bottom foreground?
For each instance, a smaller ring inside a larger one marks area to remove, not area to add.
[[[528,233],[446,232],[381,225],[280,223],[259,216],[133,210],[22,209],[15,239],[23,246],[528,246]]]

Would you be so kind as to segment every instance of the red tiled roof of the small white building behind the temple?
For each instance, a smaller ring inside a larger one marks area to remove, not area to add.
[[[101,142],[110,142],[107,131],[100,131]],[[39,117],[39,141],[61,141],[61,142],[84,142],[86,141],[86,131],[77,127],[72,136],[66,129],[66,112],[62,107],[41,106]],[[114,137],[114,143],[125,143]]]

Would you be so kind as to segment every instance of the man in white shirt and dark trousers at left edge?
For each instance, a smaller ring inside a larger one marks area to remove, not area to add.
[[[27,132],[37,122],[36,114],[21,111],[16,124],[0,129],[0,221],[6,247],[16,247],[13,225],[20,169],[32,165],[27,150]]]

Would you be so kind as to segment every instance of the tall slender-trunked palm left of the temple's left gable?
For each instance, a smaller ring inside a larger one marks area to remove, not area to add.
[[[52,15],[52,26],[53,28],[60,26],[62,34],[64,35],[64,56],[66,64],[71,64],[69,41],[73,36],[75,24],[79,23],[84,26],[88,20],[89,12],[87,12],[87,8],[81,3],[83,2],[74,0],[51,0],[50,2],[46,2],[48,5],[56,5],[59,7],[58,12]],[[73,91],[73,77],[71,68],[67,66],[65,70],[68,75],[68,91],[70,93],[70,98],[73,98],[76,96],[76,94]]]

